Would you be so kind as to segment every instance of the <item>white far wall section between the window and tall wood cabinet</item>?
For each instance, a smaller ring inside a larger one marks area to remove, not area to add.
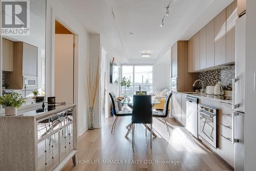
[[[169,89],[169,83],[169,63],[155,63],[153,69],[153,92],[161,89]]]

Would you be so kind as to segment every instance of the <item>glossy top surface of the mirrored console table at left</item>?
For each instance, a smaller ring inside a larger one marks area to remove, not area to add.
[[[0,114],[0,117],[34,117],[37,120],[73,108],[74,106],[76,106],[76,104],[66,103],[65,105],[56,105],[55,109],[53,110],[49,110],[50,108],[48,109],[47,105],[45,106],[45,109],[42,109],[41,106],[34,106],[32,108],[26,109],[25,112],[24,110],[17,111],[18,114],[16,115],[5,116],[5,114]]]

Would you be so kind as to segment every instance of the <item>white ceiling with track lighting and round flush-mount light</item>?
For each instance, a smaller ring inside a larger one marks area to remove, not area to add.
[[[109,46],[120,55],[141,59],[140,54],[147,51],[152,54],[151,60],[165,62],[166,52],[177,40],[188,40],[232,1],[173,0],[162,28],[160,23],[169,0],[60,2],[89,32],[105,35]]]

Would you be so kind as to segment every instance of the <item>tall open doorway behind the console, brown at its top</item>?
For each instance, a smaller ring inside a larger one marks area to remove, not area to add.
[[[55,20],[54,94],[57,102],[74,102],[74,34]]]

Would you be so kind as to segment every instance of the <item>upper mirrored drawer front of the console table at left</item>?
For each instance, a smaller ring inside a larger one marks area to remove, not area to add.
[[[42,118],[37,121],[37,139],[41,139],[65,125],[73,123],[72,109]]]

